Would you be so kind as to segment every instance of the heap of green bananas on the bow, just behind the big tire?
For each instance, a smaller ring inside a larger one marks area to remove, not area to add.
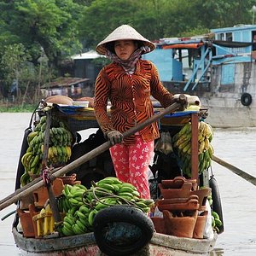
[[[91,232],[96,213],[106,207],[129,204],[148,213],[154,207],[154,200],[144,200],[139,196],[131,183],[122,183],[117,177],[92,182],[90,189],[81,184],[65,184],[58,199],[60,212],[66,212],[61,234],[73,236]]]

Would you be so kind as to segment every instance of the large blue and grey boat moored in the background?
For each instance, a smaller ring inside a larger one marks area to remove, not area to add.
[[[255,25],[212,29],[187,38],[161,38],[153,61],[173,93],[201,98],[214,127],[256,126]]]

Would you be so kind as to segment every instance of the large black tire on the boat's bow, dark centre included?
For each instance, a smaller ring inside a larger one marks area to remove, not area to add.
[[[117,228],[114,230],[114,227]],[[126,228],[129,228],[127,231]],[[145,213],[127,206],[114,206],[102,209],[98,212],[93,221],[94,236],[102,253],[109,256],[125,256],[138,252],[143,248],[154,234],[154,224]],[[111,233],[113,230],[113,233]],[[122,232],[126,231],[125,232]],[[118,232],[116,232],[118,231]],[[138,232],[137,232],[138,231]],[[132,237],[131,233],[136,233]],[[114,240],[114,236],[122,240]],[[129,234],[128,234],[129,233]],[[112,241],[111,235],[113,234]],[[126,240],[124,240],[126,238]]]

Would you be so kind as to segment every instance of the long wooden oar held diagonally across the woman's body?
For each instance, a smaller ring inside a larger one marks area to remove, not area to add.
[[[137,131],[142,130],[144,127],[154,123],[158,119],[164,117],[167,113],[172,113],[178,108],[180,108],[181,105],[177,102],[174,102],[169,107],[165,108],[164,110],[160,111],[159,113],[154,114],[151,118],[147,119],[145,122],[138,124],[137,126],[132,127],[129,131],[125,131],[123,136],[129,137],[132,134],[136,133]],[[106,143],[103,143],[101,146],[94,148],[89,153],[84,154],[83,156],[79,157],[79,159],[74,160],[72,163],[68,164],[67,166],[62,167],[61,169],[55,169],[52,171],[52,174],[50,175],[50,180],[55,180],[56,177],[61,177],[67,172],[72,171],[73,169],[81,166],[85,162],[95,158],[97,155],[102,154],[108,148],[110,148],[112,145],[108,141]],[[13,194],[7,196],[3,200],[0,201],[0,211],[3,210],[5,207],[9,207],[11,204],[15,203],[16,201],[19,201],[22,197],[29,195],[34,190],[39,189],[40,187],[44,186],[44,181],[42,180],[42,177],[38,177],[35,180],[32,181],[32,183],[26,184],[26,186],[17,189]]]

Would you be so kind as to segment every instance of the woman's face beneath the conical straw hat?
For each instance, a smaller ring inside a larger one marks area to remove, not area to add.
[[[125,61],[137,49],[137,44],[133,40],[119,40],[114,42],[113,47],[119,59]]]

